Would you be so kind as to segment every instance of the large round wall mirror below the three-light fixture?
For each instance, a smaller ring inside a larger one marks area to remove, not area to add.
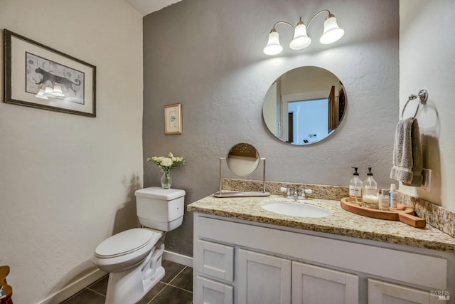
[[[311,145],[335,132],[346,112],[343,83],[315,66],[294,68],[270,86],[262,117],[272,134],[292,145]]]

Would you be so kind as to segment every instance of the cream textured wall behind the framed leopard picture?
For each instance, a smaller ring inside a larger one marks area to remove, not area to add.
[[[0,28],[97,67],[96,118],[0,103],[0,265],[11,266],[14,303],[38,303],[136,224],[142,19],[124,0],[1,0]]]

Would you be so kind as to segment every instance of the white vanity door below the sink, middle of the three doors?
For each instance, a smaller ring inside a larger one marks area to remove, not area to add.
[[[358,294],[358,276],[292,262],[292,304],[357,304]]]

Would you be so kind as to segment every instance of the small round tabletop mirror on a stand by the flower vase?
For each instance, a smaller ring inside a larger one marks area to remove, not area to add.
[[[229,150],[226,162],[230,171],[245,177],[255,172],[259,166],[259,152],[247,142],[240,142]]]

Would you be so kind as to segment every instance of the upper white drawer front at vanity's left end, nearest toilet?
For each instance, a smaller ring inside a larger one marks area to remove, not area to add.
[[[232,282],[234,279],[234,247],[198,240],[198,271],[206,276]]]

